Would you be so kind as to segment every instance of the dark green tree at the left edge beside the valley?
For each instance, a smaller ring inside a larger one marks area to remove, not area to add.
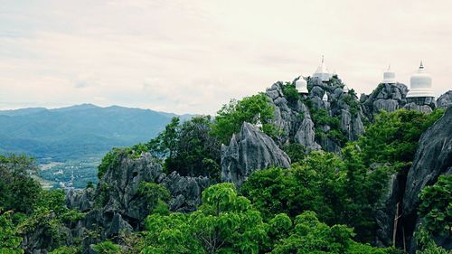
[[[0,207],[14,212],[33,212],[41,185],[30,177],[34,160],[24,155],[0,155]]]

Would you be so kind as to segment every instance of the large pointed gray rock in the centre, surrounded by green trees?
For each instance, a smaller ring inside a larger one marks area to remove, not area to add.
[[[289,167],[290,158],[271,137],[258,127],[243,123],[240,133],[231,137],[230,146],[221,146],[221,180],[237,186],[259,169]]]

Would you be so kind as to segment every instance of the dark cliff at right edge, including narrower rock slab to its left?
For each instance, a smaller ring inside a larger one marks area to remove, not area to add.
[[[427,129],[419,139],[419,148],[408,175],[394,174],[389,181],[389,192],[383,197],[383,205],[375,214],[379,226],[376,236],[378,246],[391,246],[394,218],[400,217],[396,242],[402,246],[403,235],[408,250],[415,253],[416,239],[413,232],[422,218],[418,216],[419,193],[438,181],[441,174],[452,174],[452,106],[445,115]],[[396,216],[399,207],[398,216]],[[438,238],[438,244],[450,248],[450,237]]]

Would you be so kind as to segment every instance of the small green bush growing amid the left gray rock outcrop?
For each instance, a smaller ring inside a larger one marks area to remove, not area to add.
[[[165,186],[157,183],[141,182],[137,193],[145,199],[148,212],[158,212],[160,214],[169,212],[166,202],[169,202],[171,194]]]

